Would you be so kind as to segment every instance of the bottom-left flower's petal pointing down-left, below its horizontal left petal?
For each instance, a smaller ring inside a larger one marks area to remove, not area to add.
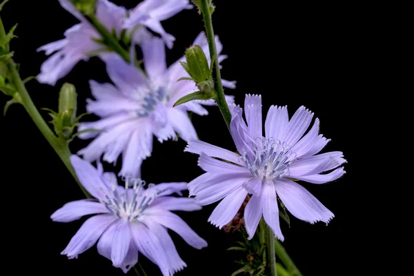
[[[92,247],[99,239],[103,231],[118,218],[114,215],[96,215],[87,219],[79,228],[75,236],[70,239],[68,246],[62,251],[69,259],[77,258],[77,255]]]

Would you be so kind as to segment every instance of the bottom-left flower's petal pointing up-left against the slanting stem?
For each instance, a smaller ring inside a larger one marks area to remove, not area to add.
[[[77,155],[70,157],[70,163],[72,164],[76,176],[81,182],[83,188],[85,188],[90,195],[97,199],[103,198],[101,188],[106,187],[101,179],[101,175],[97,172],[97,169],[92,166],[88,161],[81,159]]]

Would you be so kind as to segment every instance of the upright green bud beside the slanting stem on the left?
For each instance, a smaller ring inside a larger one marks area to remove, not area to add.
[[[64,114],[68,122],[73,121],[77,112],[76,88],[71,83],[64,83],[59,92],[59,114]]]

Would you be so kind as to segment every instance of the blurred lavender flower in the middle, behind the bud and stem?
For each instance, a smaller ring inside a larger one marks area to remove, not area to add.
[[[195,43],[208,51],[204,33],[197,37]],[[129,177],[139,177],[141,162],[151,155],[153,135],[160,142],[177,139],[175,132],[185,141],[197,139],[187,112],[207,115],[201,103],[214,104],[214,101],[188,102],[173,108],[177,99],[195,91],[195,83],[177,82],[177,79],[188,74],[179,61],[167,68],[162,39],[154,37],[143,43],[141,48],[145,74],[115,54],[102,57],[115,85],[90,81],[92,95],[97,100],[88,100],[86,109],[101,119],[79,126],[79,130],[105,130],[80,135],[82,139],[96,138],[79,154],[88,161],[98,160],[103,155],[104,161],[113,163],[122,153],[120,175]],[[220,57],[223,59],[223,56]],[[227,87],[234,87],[233,82],[224,83]],[[233,97],[228,97],[228,101],[233,102]]]

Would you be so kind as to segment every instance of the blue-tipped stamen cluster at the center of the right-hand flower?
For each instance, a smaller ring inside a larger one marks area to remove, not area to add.
[[[273,138],[257,138],[253,144],[253,157],[243,150],[242,158],[250,172],[263,178],[273,180],[289,175],[289,165],[295,160],[296,153],[285,142]]]

